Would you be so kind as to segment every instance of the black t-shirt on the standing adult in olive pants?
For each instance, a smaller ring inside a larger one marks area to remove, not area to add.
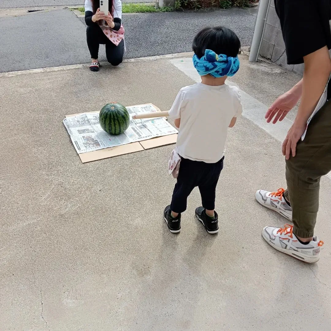
[[[331,49],[331,0],[274,0],[286,47],[287,63],[328,46]]]

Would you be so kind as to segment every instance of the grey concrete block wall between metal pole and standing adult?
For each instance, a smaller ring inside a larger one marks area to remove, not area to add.
[[[260,55],[269,59],[271,61],[275,61],[278,57],[284,52],[285,44],[283,40],[282,30],[280,29],[279,18],[276,14],[275,5],[273,0],[270,2],[267,22],[264,29],[264,34],[262,36]],[[303,74],[304,65],[288,65],[286,52],[283,56],[276,62],[280,66]]]

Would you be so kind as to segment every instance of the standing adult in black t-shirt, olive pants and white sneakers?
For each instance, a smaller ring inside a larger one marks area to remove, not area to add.
[[[314,236],[321,176],[331,170],[331,100],[312,115],[331,72],[330,0],[275,0],[286,46],[287,63],[304,63],[303,79],[281,95],[265,118],[282,120],[301,98],[298,114],[283,142],[287,190],[259,190],[256,199],[293,221],[283,228],[267,226],[263,238],[276,250],[305,262],[316,262],[323,245]],[[331,85],[331,83],[330,83]],[[330,90],[330,88],[329,88]],[[304,140],[301,139],[307,127]]]

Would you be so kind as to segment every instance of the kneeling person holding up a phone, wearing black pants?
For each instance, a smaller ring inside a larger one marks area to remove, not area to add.
[[[85,0],[85,23],[87,46],[91,54],[92,71],[98,71],[99,45],[106,45],[107,60],[113,66],[123,61],[124,29],[122,26],[122,2],[109,0],[108,15],[99,8],[100,0]]]

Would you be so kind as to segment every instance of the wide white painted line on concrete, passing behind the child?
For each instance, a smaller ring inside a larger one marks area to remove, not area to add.
[[[169,60],[169,62],[171,62],[176,68],[184,72],[194,81],[201,82],[201,77],[194,68],[191,58],[176,58]],[[240,89],[237,84],[234,84],[230,81],[227,83],[229,85],[235,85]],[[265,130],[275,139],[281,142],[284,141],[287,131],[292,125],[292,121],[284,118],[281,122],[278,121],[276,124],[267,123],[264,115],[268,107],[242,90],[240,90],[240,94],[243,104],[243,116],[250,119],[254,124],[260,126],[260,128]],[[331,172],[329,172],[327,176],[331,178]]]

